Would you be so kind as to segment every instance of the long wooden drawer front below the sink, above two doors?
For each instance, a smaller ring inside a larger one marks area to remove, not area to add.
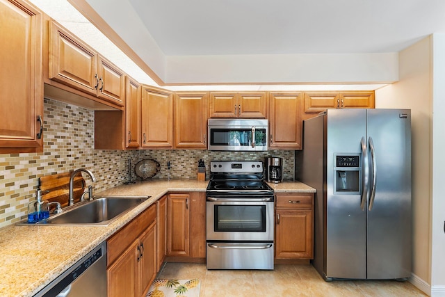
[[[149,225],[156,220],[156,204],[153,204],[142,214],[131,220],[130,223],[122,227],[116,234],[108,239],[107,266],[112,264],[127,247],[135,241],[139,234],[144,232]]]

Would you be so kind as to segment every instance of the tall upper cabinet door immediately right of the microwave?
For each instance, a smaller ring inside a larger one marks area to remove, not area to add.
[[[301,93],[270,93],[269,104],[270,148],[301,150]]]

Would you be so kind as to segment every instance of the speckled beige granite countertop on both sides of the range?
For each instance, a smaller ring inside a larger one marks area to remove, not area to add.
[[[165,193],[204,192],[208,183],[196,179],[152,179],[95,193],[151,196],[108,226],[10,225],[1,228],[0,296],[33,296]],[[300,182],[270,186],[276,193],[315,192]]]

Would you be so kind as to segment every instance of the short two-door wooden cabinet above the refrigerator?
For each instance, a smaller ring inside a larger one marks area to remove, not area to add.
[[[306,92],[305,113],[320,113],[326,109],[373,109],[374,92]]]

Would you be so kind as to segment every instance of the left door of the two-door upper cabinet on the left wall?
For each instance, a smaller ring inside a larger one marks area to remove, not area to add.
[[[58,24],[49,24],[49,79],[97,95],[97,55]]]

